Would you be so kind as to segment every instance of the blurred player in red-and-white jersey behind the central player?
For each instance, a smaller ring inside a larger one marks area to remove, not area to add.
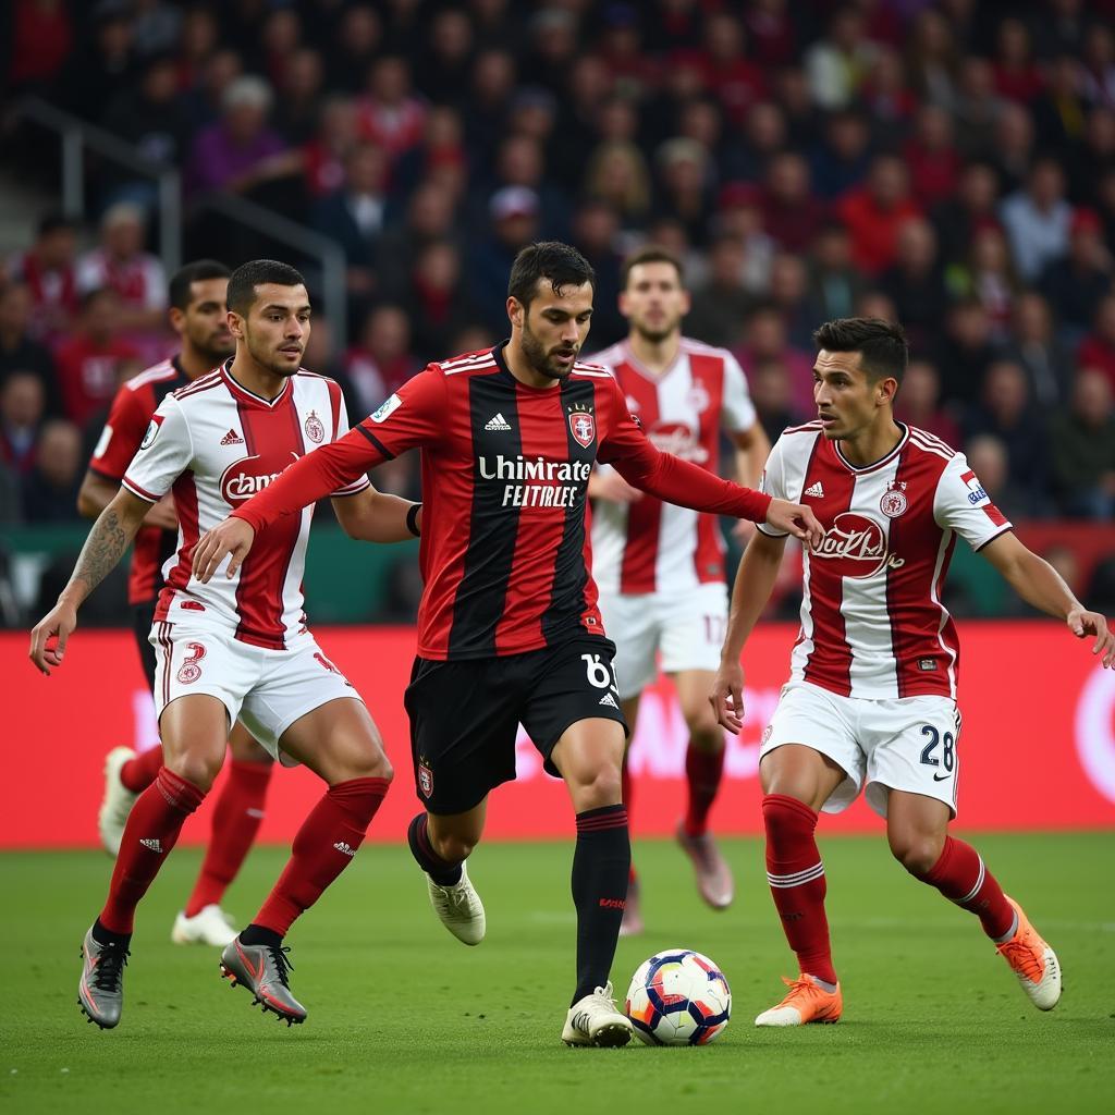
[[[681,336],[681,319],[689,312],[681,263],[662,248],[643,248],[627,260],[622,278],[620,312],[630,331],[592,362],[612,372],[659,449],[716,472],[724,430],[736,446],[739,483],[755,486],[770,443],[735,357]],[[701,898],[724,910],[731,904],[735,884],[708,831],[724,774],[724,729],[708,702],[728,621],[720,526],[712,515],[643,496],[608,465],[593,472],[589,496],[594,500],[592,575],[604,627],[615,642],[623,716],[634,733],[639,698],[655,680],[656,655],[661,652],[689,729],[688,807],[677,838],[692,861]],[[630,817],[626,760],[623,804]],[[620,935],[641,931],[632,866]]]

